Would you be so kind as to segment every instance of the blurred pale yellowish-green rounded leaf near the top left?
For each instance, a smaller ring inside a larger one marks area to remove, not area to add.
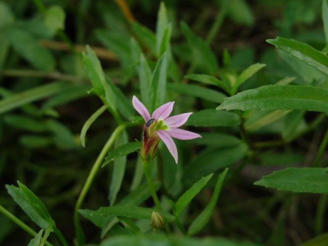
[[[52,32],[64,30],[65,17],[65,12],[60,6],[51,6],[45,13],[44,23]]]

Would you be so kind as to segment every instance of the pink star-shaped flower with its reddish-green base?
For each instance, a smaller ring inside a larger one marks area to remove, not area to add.
[[[145,105],[142,104],[136,96],[133,96],[132,104],[146,122],[144,125],[144,141],[142,148],[142,156],[144,158],[147,158],[148,154],[150,154],[151,157],[155,154],[157,145],[161,139],[178,164],[178,150],[172,137],[181,140],[202,137],[197,133],[178,128],[187,122],[192,113],[184,113],[169,117],[172,113],[174,102],[163,104],[152,113],[151,117]]]

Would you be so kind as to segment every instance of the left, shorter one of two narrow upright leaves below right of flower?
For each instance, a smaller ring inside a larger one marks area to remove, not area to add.
[[[184,192],[175,204],[175,215],[178,216],[190,201],[204,188],[209,182],[213,174],[201,178],[197,183],[193,184],[186,192]]]

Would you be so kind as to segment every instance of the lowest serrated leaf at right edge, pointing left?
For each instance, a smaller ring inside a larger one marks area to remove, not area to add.
[[[254,184],[292,192],[328,193],[328,168],[286,168]]]

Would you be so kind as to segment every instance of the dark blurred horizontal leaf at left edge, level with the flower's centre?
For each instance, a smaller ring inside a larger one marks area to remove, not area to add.
[[[5,115],[3,121],[10,126],[18,129],[32,131],[32,132],[45,132],[47,126],[45,123],[37,121],[31,117],[24,115]]]

